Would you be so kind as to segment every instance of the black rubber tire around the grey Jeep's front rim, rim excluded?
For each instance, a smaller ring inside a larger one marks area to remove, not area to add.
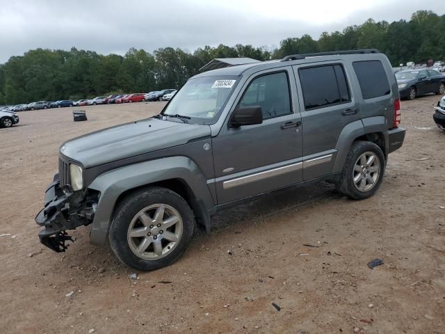
[[[131,250],[127,232],[133,218],[145,207],[154,204],[170,205],[179,213],[182,220],[182,233],[175,248],[156,260],[144,260]],[[116,257],[128,267],[140,271],[151,271],[166,267],[175,262],[186,250],[195,229],[195,218],[186,200],[170,189],[152,187],[130,193],[115,208],[115,216],[110,226],[108,239]]]

